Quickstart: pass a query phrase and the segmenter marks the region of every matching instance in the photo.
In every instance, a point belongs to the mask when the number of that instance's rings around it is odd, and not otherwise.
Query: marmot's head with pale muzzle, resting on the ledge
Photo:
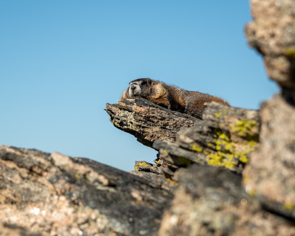
[[[129,83],[130,98],[140,98],[150,95],[152,91],[153,80],[149,78],[136,79]]]

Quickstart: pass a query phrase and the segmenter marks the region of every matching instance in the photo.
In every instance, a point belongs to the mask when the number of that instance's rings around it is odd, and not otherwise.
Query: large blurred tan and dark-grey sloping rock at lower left
[[[0,167],[0,230],[16,235],[155,235],[172,199],[163,176],[59,153],[0,146]]]

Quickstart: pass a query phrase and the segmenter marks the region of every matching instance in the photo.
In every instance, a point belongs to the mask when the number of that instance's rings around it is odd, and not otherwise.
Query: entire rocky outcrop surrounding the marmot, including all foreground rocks
[[[206,104],[202,120],[145,99],[106,104],[159,151],[130,173],[0,146],[1,235],[295,235],[295,5],[251,6],[249,44],[281,94],[259,111]]]

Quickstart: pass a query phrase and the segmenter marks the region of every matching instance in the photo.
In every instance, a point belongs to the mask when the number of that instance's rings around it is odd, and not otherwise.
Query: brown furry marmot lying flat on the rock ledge
[[[120,100],[146,98],[154,103],[202,119],[205,102],[216,101],[230,105],[221,98],[200,92],[186,91],[175,85],[169,85],[150,78],[141,78],[129,83]]]

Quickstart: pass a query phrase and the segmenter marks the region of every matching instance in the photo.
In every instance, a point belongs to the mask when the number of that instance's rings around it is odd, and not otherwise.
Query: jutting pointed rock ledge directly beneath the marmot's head
[[[190,127],[196,120],[142,98],[107,103],[105,110],[115,127],[134,135],[148,147],[152,147],[156,139],[174,142],[180,127]]]

